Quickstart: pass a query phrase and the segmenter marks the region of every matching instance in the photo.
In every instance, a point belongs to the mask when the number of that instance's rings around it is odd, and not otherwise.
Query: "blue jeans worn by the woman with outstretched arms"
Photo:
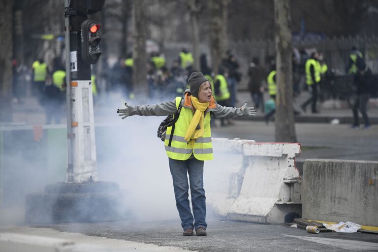
[[[169,169],[173,179],[176,206],[183,229],[203,227],[206,229],[206,197],[203,189],[203,161],[196,158],[176,160],[169,158]],[[193,215],[189,206],[189,184]],[[194,221],[194,225],[193,225]]]

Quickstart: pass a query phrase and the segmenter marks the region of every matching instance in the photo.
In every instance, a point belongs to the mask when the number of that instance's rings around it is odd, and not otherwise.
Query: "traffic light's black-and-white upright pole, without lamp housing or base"
[[[69,4],[69,6],[68,6]],[[67,182],[97,181],[91,64],[82,59],[86,0],[65,0]]]

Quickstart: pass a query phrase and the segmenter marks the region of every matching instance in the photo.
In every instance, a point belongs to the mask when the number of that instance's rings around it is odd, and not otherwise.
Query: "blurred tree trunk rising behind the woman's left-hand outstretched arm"
[[[132,58],[134,59],[133,85],[136,94],[148,94],[147,76],[147,53],[146,53],[146,1],[134,0],[133,6],[133,37],[134,48]]]

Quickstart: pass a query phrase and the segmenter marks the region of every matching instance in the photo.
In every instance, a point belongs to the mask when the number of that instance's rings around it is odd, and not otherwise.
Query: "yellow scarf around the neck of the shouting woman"
[[[185,140],[188,142],[190,139],[197,139],[203,136],[203,119],[205,116],[205,111],[209,107],[209,102],[201,103],[197,97],[191,96],[191,103],[193,104],[195,110],[194,116],[190,121],[187,132],[185,133]],[[196,129],[199,125],[199,129]]]

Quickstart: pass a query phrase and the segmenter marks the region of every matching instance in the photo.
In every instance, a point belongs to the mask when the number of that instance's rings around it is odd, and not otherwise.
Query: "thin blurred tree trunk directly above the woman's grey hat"
[[[199,16],[200,8],[201,6],[199,5],[198,0],[189,1],[194,69],[197,71],[201,70],[200,64],[199,64],[199,29],[198,29],[198,16]]]

